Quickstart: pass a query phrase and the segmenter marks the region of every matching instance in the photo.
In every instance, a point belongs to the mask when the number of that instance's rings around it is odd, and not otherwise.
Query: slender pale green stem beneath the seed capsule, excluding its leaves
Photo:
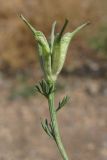
[[[53,86],[54,85],[55,84],[53,83]],[[53,132],[54,132],[54,140],[57,144],[57,147],[58,147],[59,152],[62,156],[62,159],[63,160],[68,160],[68,156],[67,156],[66,151],[64,149],[63,143],[61,141],[60,133],[59,133],[56,109],[55,109],[55,105],[54,105],[54,92],[49,95],[48,104],[49,104],[49,112],[50,112],[51,123],[52,123],[52,127],[53,127]]]

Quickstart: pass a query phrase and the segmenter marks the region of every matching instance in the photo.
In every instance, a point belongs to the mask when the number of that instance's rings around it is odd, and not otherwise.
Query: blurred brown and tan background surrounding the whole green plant
[[[71,160],[107,159],[107,0],[0,0],[0,160],[61,159],[40,125],[49,117],[44,97],[35,92],[43,78],[32,34],[22,13],[47,37],[57,20],[66,31],[86,21],[69,47],[57,82],[56,106],[63,142]]]

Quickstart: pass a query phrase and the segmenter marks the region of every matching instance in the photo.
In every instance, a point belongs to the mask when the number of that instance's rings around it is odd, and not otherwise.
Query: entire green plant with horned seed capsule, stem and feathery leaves
[[[46,134],[57,144],[62,159],[68,160],[59,132],[57,112],[66,105],[69,97],[65,96],[61,101],[59,101],[58,107],[55,107],[54,96],[56,91],[56,80],[64,65],[68,46],[72,38],[82,28],[88,25],[89,22],[77,27],[73,32],[68,32],[64,35],[63,33],[68,24],[68,20],[65,20],[60,33],[55,33],[56,22],[54,22],[52,25],[51,39],[48,42],[41,31],[37,31],[22,15],[20,17],[32,31],[35,40],[38,42],[39,58],[41,68],[44,73],[44,79],[40,81],[35,88],[36,91],[44,95],[48,100],[50,113],[50,121],[47,118],[45,120],[41,120],[41,125]]]

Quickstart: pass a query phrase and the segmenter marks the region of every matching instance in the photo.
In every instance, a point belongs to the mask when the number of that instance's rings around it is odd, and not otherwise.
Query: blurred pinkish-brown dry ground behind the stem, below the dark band
[[[66,84],[65,84],[66,82]],[[63,142],[70,160],[107,159],[107,83],[103,79],[63,77],[58,99],[70,102],[58,113]],[[40,95],[28,100],[8,100],[12,80],[0,80],[0,160],[61,159],[56,146],[40,126],[48,116],[46,100]]]

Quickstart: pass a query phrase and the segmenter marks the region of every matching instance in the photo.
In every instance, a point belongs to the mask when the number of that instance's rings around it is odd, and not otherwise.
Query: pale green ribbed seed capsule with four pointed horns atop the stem
[[[51,40],[50,43],[48,43],[41,31],[37,31],[22,15],[20,17],[30,28],[35,40],[38,42],[40,63],[45,79],[49,82],[56,81],[64,65],[67,50],[72,38],[89,23],[85,23],[76,28],[73,32],[68,32],[63,35],[68,23],[68,20],[65,20],[61,32],[55,36],[56,22],[54,22],[52,25]]]

